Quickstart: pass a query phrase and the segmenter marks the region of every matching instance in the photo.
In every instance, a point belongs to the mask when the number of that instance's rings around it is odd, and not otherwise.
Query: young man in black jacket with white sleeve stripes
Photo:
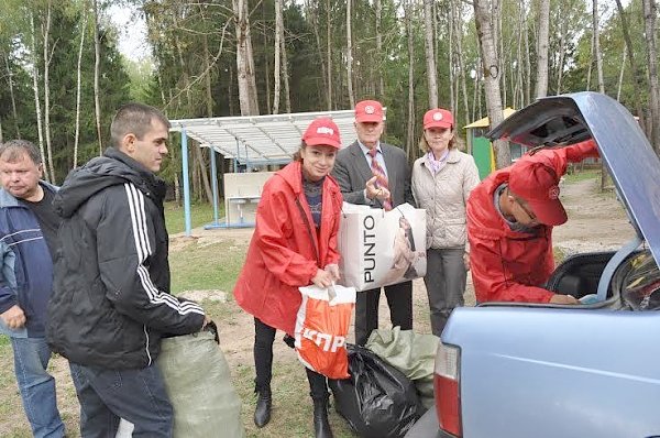
[[[82,437],[113,437],[120,417],[134,437],[170,437],[172,405],[154,361],[163,333],[208,321],[169,294],[165,183],[169,121],[129,103],[116,114],[112,147],[74,169],[54,206],[62,216],[47,339],[67,358]]]

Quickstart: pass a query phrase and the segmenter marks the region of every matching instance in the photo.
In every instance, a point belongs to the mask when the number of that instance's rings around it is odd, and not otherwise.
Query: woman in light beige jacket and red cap
[[[440,336],[463,293],[470,261],[466,249],[465,202],[480,183],[474,158],[457,149],[450,111],[436,108],[424,116],[419,147],[425,155],[413,166],[413,195],[427,210],[427,275],[431,330]]]

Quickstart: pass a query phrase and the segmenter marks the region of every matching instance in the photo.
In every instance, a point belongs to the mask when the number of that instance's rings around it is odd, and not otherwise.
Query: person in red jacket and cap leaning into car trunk
[[[598,152],[593,140],[522,156],[484,179],[466,205],[476,300],[579,304],[543,287],[554,270],[552,228],[566,221],[559,179]]]

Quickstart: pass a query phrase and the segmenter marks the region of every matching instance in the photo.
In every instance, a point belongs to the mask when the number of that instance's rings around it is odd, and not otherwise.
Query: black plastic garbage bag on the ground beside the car
[[[329,381],[337,412],[361,437],[403,437],[425,410],[415,384],[371,350],[346,349],[351,377]]]

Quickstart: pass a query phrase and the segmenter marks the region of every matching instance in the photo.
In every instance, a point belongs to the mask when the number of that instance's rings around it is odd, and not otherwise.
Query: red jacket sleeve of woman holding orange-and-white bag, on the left
[[[261,250],[266,269],[282,283],[289,286],[307,286],[316,275],[316,261],[306,259],[290,249],[285,227],[290,228],[289,202],[285,194],[264,186],[262,201],[257,209],[256,243]],[[293,230],[293,232],[305,232]]]

